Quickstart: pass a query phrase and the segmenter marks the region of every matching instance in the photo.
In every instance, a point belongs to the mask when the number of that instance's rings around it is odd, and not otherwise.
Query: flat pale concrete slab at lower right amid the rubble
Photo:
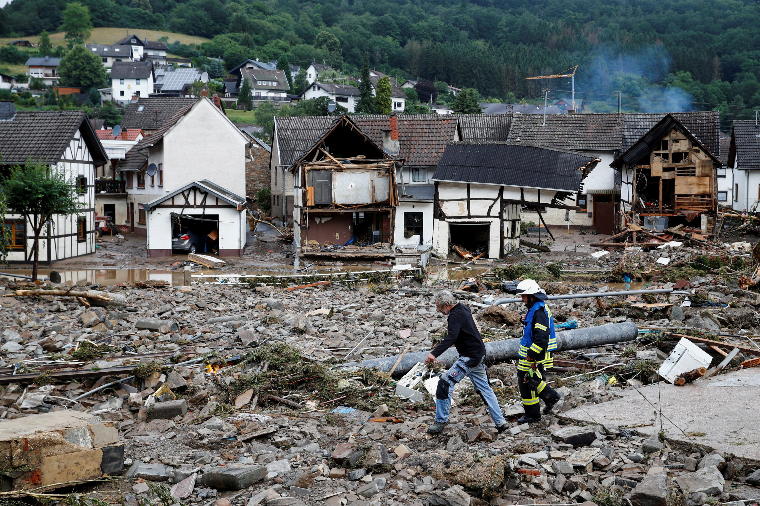
[[[677,426],[663,418],[667,438],[689,443],[689,438],[679,429],[687,434],[705,432],[705,436],[689,437],[721,453],[760,460],[760,416],[757,416],[760,367],[699,379],[682,387],[660,382],[659,386],[647,385],[638,391],[624,390],[621,394],[621,399],[576,407],[564,416],[568,421],[617,426],[654,423],[637,428],[640,434],[651,435],[660,430],[659,416],[654,414],[653,405],[657,407],[661,401],[663,415]]]

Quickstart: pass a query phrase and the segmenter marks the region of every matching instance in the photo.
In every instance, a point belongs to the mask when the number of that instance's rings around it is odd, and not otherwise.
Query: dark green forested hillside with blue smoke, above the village
[[[66,0],[13,0],[2,35],[55,31]],[[181,55],[326,61],[356,72],[442,80],[505,99],[565,96],[569,80],[524,80],[576,64],[594,110],[760,105],[757,2],[739,0],[82,0],[99,26],[168,29],[211,39]],[[169,42],[172,42],[169,39]],[[686,93],[681,93],[684,90]],[[597,93],[592,95],[591,93]],[[633,97],[633,98],[631,98]],[[669,102],[667,102],[669,101]],[[594,103],[597,102],[597,103]],[[743,118],[743,117],[742,117]]]

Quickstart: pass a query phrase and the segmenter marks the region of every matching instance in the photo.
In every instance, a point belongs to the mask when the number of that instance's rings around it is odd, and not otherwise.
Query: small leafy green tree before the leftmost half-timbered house
[[[34,242],[32,279],[37,278],[40,263],[40,235],[55,215],[71,215],[82,209],[78,190],[66,181],[62,172],[42,163],[17,165],[2,181],[2,194],[8,212],[23,215],[31,225]]]

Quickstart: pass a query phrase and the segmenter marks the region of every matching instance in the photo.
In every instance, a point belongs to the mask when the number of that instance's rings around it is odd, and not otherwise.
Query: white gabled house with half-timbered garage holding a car
[[[248,143],[220,104],[201,97],[127,153],[117,170],[126,181],[127,225],[147,235],[148,256],[169,256],[185,231],[200,239],[198,253],[242,253]]]

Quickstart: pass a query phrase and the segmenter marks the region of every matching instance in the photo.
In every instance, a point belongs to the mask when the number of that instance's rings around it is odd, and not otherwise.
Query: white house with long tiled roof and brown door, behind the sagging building
[[[678,112],[673,113],[673,117],[712,155],[719,156],[716,155],[720,153],[719,114],[717,111]],[[612,165],[613,161],[665,116],[644,113],[562,114],[546,115],[546,118],[543,115],[511,115],[511,141],[572,149],[602,160],[584,182],[583,193],[576,196],[578,209],[569,213],[569,222],[565,221],[565,211],[548,208],[543,215],[546,223],[557,227],[593,226],[600,234],[613,234],[621,228],[622,172]],[[463,134],[466,139],[466,129]],[[525,212],[535,211],[525,209]]]

